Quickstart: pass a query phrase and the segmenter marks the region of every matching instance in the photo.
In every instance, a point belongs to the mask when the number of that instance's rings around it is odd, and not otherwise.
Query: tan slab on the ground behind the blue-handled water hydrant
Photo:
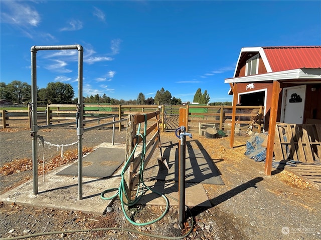
[[[145,184],[151,189],[161,192],[167,196],[171,206],[178,206],[179,202],[179,185],[176,181],[146,181]],[[138,201],[140,204],[147,205],[166,205],[164,197],[146,190],[144,195]],[[185,188],[185,204],[189,207],[205,206],[211,207],[212,204],[206,194],[202,184],[186,183]]]

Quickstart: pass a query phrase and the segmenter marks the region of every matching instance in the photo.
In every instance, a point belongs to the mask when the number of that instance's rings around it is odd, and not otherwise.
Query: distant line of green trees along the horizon
[[[77,103],[78,98],[74,98],[75,92],[71,84],[63,82],[49,82],[47,87],[37,88],[37,101],[39,104],[47,103]],[[17,103],[17,104],[27,104],[31,102],[31,85],[27,82],[21,82],[19,80],[14,80],[8,84],[5,82],[0,82],[0,98],[5,100],[7,103]],[[211,102],[210,96],[207,90],[202,92],[201,88],[198,88],[193,102],[198,102],[199,104],[209,104],[218,105],[218,102]],[[109,103],[109,104],[165,104],[165,105],[180,105],[183,103],[181,98],[176,98],[172,96],[171,92],[165,90],[162,87],[160,90],[156,91],[153,97],[145,98],[142,92],[139,92],[136,99],[115,99],[107,96],[105,93],[100,96],[99,94],[90,95],[83,97],[84,103]],[[222,103],[222,102],[219,102]],[[231,102],[224,102],[225,105],[232,104]]]

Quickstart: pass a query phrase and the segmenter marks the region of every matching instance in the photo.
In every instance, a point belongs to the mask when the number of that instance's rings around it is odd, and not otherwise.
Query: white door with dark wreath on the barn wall
[[[282,115],[285,123],[303,123],[305,85],[283,88]]]

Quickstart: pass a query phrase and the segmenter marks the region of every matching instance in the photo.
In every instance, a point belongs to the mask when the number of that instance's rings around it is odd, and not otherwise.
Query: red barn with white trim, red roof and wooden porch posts
[[[271,174],[276,122],[321,123],[321,46],[243,47],[234,75],[225,83],[231,86],[233,112],[236,104],[264,106],[267,175]],[[232,134],[232,147],[233,141]]]

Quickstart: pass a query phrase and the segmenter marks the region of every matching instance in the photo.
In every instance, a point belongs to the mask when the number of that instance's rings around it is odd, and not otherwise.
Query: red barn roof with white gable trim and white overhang
[[[267,73],[241,77],[236,76],[240,62],[244,62],[250,55],[257,53],[260,54]],[[315,69],[315,71],[311,69]],[[309,73],[306,73],[306,71]],[[243,47],[239,54],[233,78],[226,78],[225,83],[266,81],[273,79],[281,80],[285,78],[305,79],[306,77],[319,81],[320,71],[321,46]]]

